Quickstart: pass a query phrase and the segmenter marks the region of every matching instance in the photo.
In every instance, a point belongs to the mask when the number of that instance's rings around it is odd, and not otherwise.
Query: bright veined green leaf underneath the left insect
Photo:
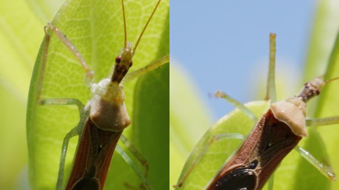
[[[135,43],[139,34],[150,16],[156,2],[154,0],[128,0],[125,2],[127,41]],[[133,67],[130,71],[141,68],[158,58],[169,54],[169,1],[162,1],[152,18],[133,58]],[[73,43],[83,55],[89,67],[94,71],[94,82],[107,78],[113,66],[114,58],[123,47],[123,22],[120,0],[67,0],[60,8],[52,24],[58,27],[67,38]],[[55,189],[56,178],[61,152],[61,144],[64,136],[79,121],[79,114],[76,106],[61,105],[39,105],[37,104],[37,88],[40,77],[45,41],[41,45],[34,73],[31,80],[31,88],[27,111],[27,139],[29,147],[29,178],[32,189]],[[83,103],[90,99],[90,93],[83,83],[84,71],[73,54],[52,34],[49,45],[49,52],[44,73],[42,98],[77,98]],[[167,68],[167,69],[166,69]],[[124,134],[130,136],[134,127],[144,127],[133,119],[138,117],[140,112],[147,112],[149,109],[143,107],[135,111],[140,97],[147,96],[150,92],[158,91],[157,86],[168,85],[168,66],[152,72],[145,87],[147,92],[140,92],[136,86],[136,80],[125,84],[125,104],[129,115],[132,117],[133,125],[128,127]],[[145,76],[147,77],[147,76]],[[138,82],[139,83],[139,82]],[[158,84],[157,84],[158,83]],[[140,88],[140,87],[139,87]],[[161,89],[159,89],[161,91]],[[157,92],[164,93],[164,92]],[[148,99],[145,98],[145,101]],[[143,101],[144,99],[142,99]],[[164,114],[168,99],[162,99],[164,103],[159,105],[161,111],[157,113],[150,111],[150,115]],[[141,100],[140,100],[141,101]],[[168,107],[167,107],[168,109]],[[166,118],[165,118],[166,119]],[[140,119],[143,121],[143,119]],[[168,126],[168,125],[167,125]],[[163,133],[168,134],[167,126],[163,126]],[[159,126],[157,126],[159,127]],[[151,138],[154,134],[149,134]],[[138,142],[138,141],[133,141]],[[66,174],[69,171],[77,138],[69,143],[66,157]],[[135,144],[139,146],[140,144]],[[166,146],[165,146],[166,145]],[[163,144],[158,148],[168,150],[168,145]],[[143,147],[144,145],[140,145]],[[155,150],[156,153],[157,150]],[[143,154],[143,151],[141,152]],[[150,175],[153,172],[150,162]],[[167,168],[168,169],[168,168]],[[155,174],[152,174],[155,175]],[[158,174],[159,175],[159,174]],[[107,179],[107,189],[124,189],[125,182],[138,186],[140,181],[135,173],[127,166],[119,155],[113,155],[111,170]],[[151,182],[153,182],[151,180]],[[161,186],[157,184],[153,186]],[[167,187],[167,186],[166,186]]]

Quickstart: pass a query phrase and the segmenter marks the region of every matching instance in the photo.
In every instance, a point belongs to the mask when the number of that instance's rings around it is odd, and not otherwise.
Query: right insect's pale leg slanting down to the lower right
[[[329,180],[335,181],[337,179],[336,174],[332,171],[331,167],[319,162],[319,160],[317,160],[308,151],[304,150],[300,146],[295,146],[294,149],[298,151],[302,157],[304,157],[310,164],[316,167]]]

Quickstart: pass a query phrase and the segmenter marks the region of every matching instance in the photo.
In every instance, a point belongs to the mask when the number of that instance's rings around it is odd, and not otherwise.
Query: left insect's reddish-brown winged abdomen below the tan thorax
[[[87,118],[66,190],[103,190],[120,132],[104,131]]]

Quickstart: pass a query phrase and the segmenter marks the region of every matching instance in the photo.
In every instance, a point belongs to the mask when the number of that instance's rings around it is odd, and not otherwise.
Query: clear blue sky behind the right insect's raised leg
[[[293,80],[305,64],[316,6],[315,0],[171,0],[171,60],[188,73],[216,120],[233,107],[209,93],[222,90],[248,102],[265,87],[270,32],[277,33],[277,72],[299,85]]]

